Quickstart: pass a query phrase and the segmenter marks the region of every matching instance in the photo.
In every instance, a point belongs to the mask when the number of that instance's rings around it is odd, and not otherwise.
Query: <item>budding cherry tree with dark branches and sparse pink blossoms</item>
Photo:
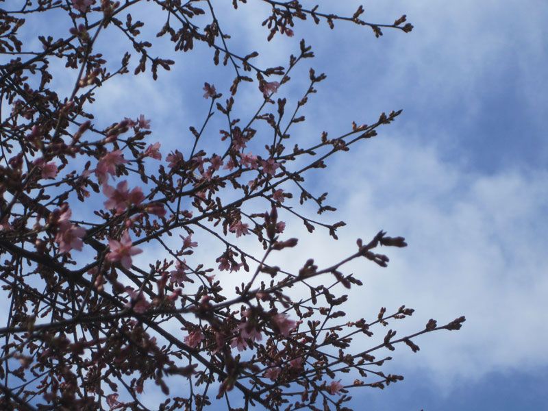
[[[232,6],[240,12],[247,3]],[[362,26],[356,29],[378,38],[412,25],[406,16],[371,23],[361,6],[347,16],[322,9],[334,3],[249,3],[264,4],[264,21],[240,24],[262,25],[268,40],[294,40],[295,53],[279,66],[261,66],[257,51],[233,49],[238,32],[231,38],[224,31],[214,0],[3,3],[2,409],[147,410],[154,393],[159,410],[343,410],[353,388],[403,379],[383,371],[388,351],[406,345],[416,352],[417,336],[460,329],[464,317],[443,325],[430,319],[396,336],[389,325],[413,314],[405,306],[347,318],[345,291],[362,281],[345,265],[385,267],[380,248],[406,247],[402,237],[369,233],[330,266],[314,256],[297,270],[276,265],[299,247],[290,225],[304,224],[312,236],[325,230],[334,240],[345,225],[330,222],[335,208],[327,193],[308,190],[306,177],[401,112],[313,141],[293,132],[325,79],[310,69],[297,101],[281,97],[295,67],[314,57],[298,40],[299,26]],[[145,5],[163,20],[134,18]],[[33,19],[50,32],[36,34]],[[59,32],[59,21],[70,27]],[[147,29],[158,31],[148,38]],[[127,51],[106,58],[113,36]],[[196,64],[220,66],[232,84],[221,89],[206,77],[184,86],[209,110],[171,150],[163,149],[170,136],[155,134],[146,112],[132,117],[119,108],[105,118],[94,105],[119,77],[169,76],[177,57],[156,54],[160,40],[181,60],[203,45],[211,60]],[[75,81],[59,87],[66,78]],[[245,105],[246,117],[238,118],[242,90],[259,103]],[[310,204],[319,216],[308,215]]]

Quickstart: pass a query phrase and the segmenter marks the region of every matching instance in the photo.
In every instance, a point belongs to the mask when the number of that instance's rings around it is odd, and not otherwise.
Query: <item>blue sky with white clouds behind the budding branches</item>
[[[308,186],[328,190],[338,207],[333,221],[348,226],[336,243],[323,234],[307,240],[303,229],[290,228],[305,241],[282,262],[298,266],[303,253],[334,262],[356,237],[386,229],[410,246],[390,250],[388,269],[351,267],[366,289],[351,295],[347,312],[371,316],[380,306],[406,303],[417,311],[402,332],[431,316],[467,317],[458,333],[420,340],[419,353],[397,350],[391,367],[406,380],[382,392],[354,391],[353,408],[548,410],[548,3],[375,0],[365,4],[367,19],[393,21],[405,13],[413,32],[388,30],[375,39],[361,27],[340,23],[330,32],[299,23],[294,38],[270,44],[261,27],[242,24],[242,16],[264,15],[248,3],[220,14],[231,47],[264,50],[259,61],[272,65],[285,64],[302,37],[316,52],[280,94],[297,99],[310,66],[327,73],[296,136],[335,135],[351,121],[372,123],[379,112],[403,109],[379,138],[310,175]],[[319,3],[350,14],[358,5]],[[119,45],[108,41],[115,51]],[[169,45],[161,47],[170,53]],[[100,89],[97,118],[108,124],[121,112],[144,113],[164,155],[185,145],[188,126],[200,125],[208,108],[201,84],[212,82],[227,95],[232,72],[211,68],[209,51],[200,47],[176,58],[173,72],[160,73],[157,83],[141,75]],[[240,101],[256,101],[255,87]]]

